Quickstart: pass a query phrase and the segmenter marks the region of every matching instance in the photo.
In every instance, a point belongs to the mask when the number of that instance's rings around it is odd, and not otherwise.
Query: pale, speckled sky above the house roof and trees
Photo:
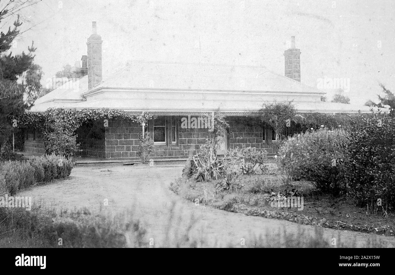
[[[30,29],[11,50],[27,51],[34,41],[45,84],[87,54],[96,21],[103,77],[128,60],[265,66],[284,75],[284,51],[295,36],[301,83],[320,86],[330,100],[336,89],[322,87],[322,79],[344,81],[350,102],[364,104],[377,102],[379,83],[395,90],[394,6],[392,0],[42,0],[21,11],[22,29]]]

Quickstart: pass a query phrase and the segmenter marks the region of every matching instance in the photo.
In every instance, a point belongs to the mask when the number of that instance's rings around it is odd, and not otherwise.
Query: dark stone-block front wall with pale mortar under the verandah
[[[259,123],[250,124],[240,122],[237,118],[229,120],[227,148],[240,150],[254,147],[258,150],[266,150],[269,154],[273,153],[271,131]],[[149,123],[147,127],[152,137],[152,123]],[[142,126],[136,122],[109,120],[109,125],[105,129],[105,158],[138,158],[140,132],[142,132]],[[201,150],[201,145],[204,145],[207,139],[212,138],[212,133],[206,128],[181,128],[181,119],[177,119],[176,132],[175,143],[169,142],[167,138],[166,144],[154,144],[155,156],[193,156]]]

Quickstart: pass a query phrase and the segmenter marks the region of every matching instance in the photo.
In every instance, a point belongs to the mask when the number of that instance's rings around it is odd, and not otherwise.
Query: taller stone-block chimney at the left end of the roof
[[[88,46],[88,90],[102,81],[102,38],[97,34],[96,22],[92,22],[93,33],[87,41]],[[81,58],[83,60],[83,58]],[[84,60],[83,60],[84,62]]]

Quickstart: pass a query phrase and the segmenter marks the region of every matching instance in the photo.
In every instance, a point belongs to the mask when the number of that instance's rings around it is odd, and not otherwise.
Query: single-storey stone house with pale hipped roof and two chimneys
[[[285,75],[254,66],[131,61],[102,79],[102,38],[94,22],[87,55],[72,70],[74,79],[36,100],[30,111],[59,107],[153,113],[158,118],[145,130],[154,138],[156,157],[185,159],[199,150],[210,131],[182,127],[182,122],[219,109],[230,128],[218,153],[250,146],[272,153],[273,130],[262,126],[256,117],[264,101],[293,100],[303,113],[369,112],[367,106],[322,102],[324,92],[300,83],[300,55],[292,37],[291,49],[284,52]],[[83,155],[136,158],[141,131],[137,123],[110,120],[108,127],[100,121],[86,125],[77,134],[86,136],[80,140]],[[40,136],[30,134],[25,148],[43,153]]]

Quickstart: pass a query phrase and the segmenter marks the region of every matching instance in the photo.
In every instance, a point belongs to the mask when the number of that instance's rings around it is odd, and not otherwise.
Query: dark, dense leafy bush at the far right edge
[[[348,194],[359,205],[376,206],[381,199],[382,206],[393,208],[395,118],[381,113],[363,117],[362,123],[350,134],[347,152]]]

